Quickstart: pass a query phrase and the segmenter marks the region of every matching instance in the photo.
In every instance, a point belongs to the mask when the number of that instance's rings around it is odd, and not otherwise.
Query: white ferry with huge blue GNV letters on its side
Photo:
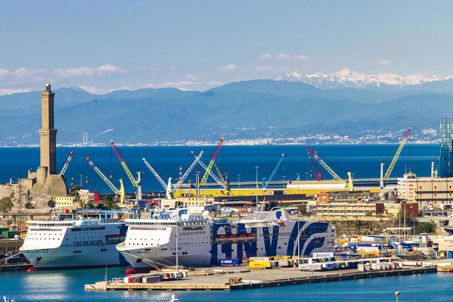
[[[206,211],[207,212],[207,211]],[[335,226],[298,221],[278,206],[238,219],[188,214],[177,208],[148,219],[126,219],[126,240],[116,246],[137,272],[173,266],[209,267],[218,259],[334,252]],[[178,242],[178,244],[177,244]]]

